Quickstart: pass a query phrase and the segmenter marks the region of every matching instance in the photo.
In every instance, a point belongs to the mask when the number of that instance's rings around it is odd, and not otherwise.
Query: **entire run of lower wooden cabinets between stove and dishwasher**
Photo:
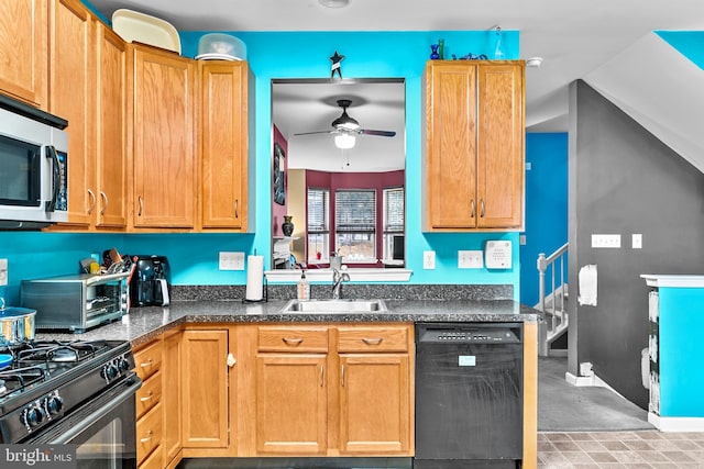
[[[194,324],[134,351],[138,464],[413,456],[411,324]]]

